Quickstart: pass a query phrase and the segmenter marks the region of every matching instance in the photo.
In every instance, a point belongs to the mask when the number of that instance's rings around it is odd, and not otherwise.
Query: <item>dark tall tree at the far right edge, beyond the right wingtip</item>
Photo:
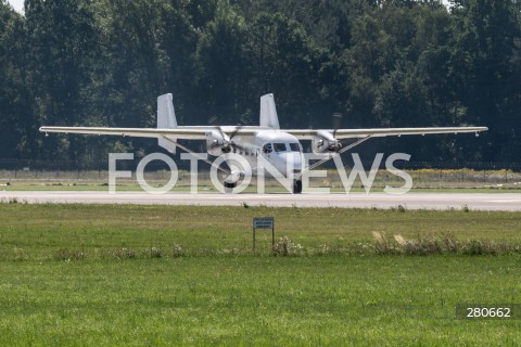
[[[490,127],[476,158],[512,157],[521,132],[521,75],[516,42],[521,38],[519,11],[510,1],[468,0],[453,10],[450,77],[468,121]]]

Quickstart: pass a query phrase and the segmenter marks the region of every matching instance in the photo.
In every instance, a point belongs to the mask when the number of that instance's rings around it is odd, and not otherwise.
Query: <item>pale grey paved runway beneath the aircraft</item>
[[[519,193],[385,193],[350,194],[221,194],[170,192],[154,195],[147,192],[66,192],[20,191],[0,192],[3,203],[16,201],[28,204],[144,204],[200,206],[280,206],[280,207],[338,207],[338,208],[396,208],[406,209],[462,209],[521,211]]]

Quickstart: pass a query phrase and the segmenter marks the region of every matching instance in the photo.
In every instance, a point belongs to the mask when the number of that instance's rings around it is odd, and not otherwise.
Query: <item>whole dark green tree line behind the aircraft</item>
[[[478,140],[378,140],[416,160],[519,162],[521,7],[509,0],[0,0],[0,158],[89,160],[155,141],[41,125],[487,126]],[[216,118],[216,120],[215,120]]]

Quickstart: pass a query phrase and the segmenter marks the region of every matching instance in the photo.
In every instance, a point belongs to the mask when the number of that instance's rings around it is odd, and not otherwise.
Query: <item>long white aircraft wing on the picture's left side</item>
[[[225,132],[233,132],[236,127],[221,127]],[[215,130],[216,127],[177,127],[174,129],[155,128],[104,128],[104,127],[40,127],[41,132],[64,132],[85,134],[113,134],[137,138],[175,138],[183,140],[204,140],[206,132]],[[253,134],[258,131],[254,128],[240,129],[241,134]]]

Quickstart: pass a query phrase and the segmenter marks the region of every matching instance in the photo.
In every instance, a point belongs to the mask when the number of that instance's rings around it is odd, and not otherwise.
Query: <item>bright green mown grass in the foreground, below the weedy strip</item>
[[[201,257],[2,262],[0,344],[514,346],[519,257]]]

